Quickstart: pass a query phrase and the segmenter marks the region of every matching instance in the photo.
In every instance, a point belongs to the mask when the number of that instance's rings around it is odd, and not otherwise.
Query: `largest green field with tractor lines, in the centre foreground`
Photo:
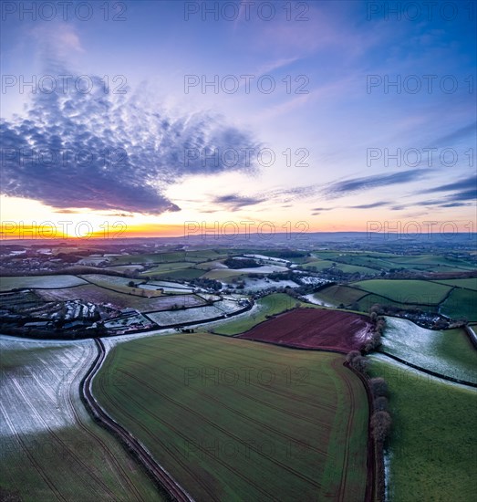
[[[114,347],[93,391],[196,500],[362,500],[368,401],[343,361],[171,335]]]

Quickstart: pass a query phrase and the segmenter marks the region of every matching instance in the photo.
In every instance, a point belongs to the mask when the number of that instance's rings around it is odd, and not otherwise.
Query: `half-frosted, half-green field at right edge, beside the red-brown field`
[[[477,350],[463,329],[437,331],[407,319],[386,321],[381,350],[426,370],[477,383]]]

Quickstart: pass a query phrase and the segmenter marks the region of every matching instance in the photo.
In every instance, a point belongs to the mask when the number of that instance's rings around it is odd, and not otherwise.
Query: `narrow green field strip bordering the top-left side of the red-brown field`
[[[226,320],[213,329],[215,333],[221,335],[238,335],[244,333],[248,329],[254,328],[259,322],[263,322],[266,316],[273,316],[285,312],[285,310],[293,309],[299,303],[301,307],[313,307],[302,302],[298,302],[285,293],[274,293],[266,297],[259,298],[256,301],[258,310],[253,313],[248,313],[239,319]]]

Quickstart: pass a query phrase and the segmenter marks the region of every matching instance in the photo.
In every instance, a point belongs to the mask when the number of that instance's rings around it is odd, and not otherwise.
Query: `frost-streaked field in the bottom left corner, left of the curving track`
[[[79,397],[93,340],[0,336],[0,485],[25,501],[160,500]]]

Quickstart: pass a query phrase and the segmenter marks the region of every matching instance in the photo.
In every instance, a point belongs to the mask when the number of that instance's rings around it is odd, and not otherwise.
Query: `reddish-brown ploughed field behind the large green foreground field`
[[[327,309],[294,309],[258,324],[237,338],[305,349],[360,350],[370,334],[365,316]]]

